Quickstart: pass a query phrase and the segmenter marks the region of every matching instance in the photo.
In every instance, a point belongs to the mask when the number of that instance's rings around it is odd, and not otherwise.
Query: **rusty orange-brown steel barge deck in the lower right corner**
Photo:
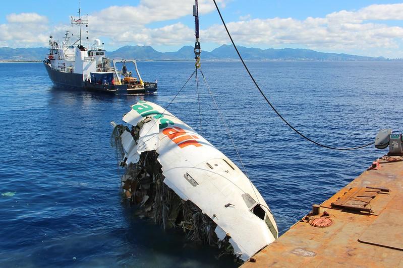
[[[382,157],[242,267],[403,267],[403,161],[394,159]]]

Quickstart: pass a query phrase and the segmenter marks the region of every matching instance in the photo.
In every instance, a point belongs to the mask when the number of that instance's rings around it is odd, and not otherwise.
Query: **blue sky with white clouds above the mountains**
[[[216,0],[237,45],[403,58],[403,2],[371,0]],[[212,0],[199,0],[202,50],[229,44]],[[47,47],[49,35],[76,38],[70,17],[88,16],[88,36],[106,50],[147,45],[167,52],[194,45],[194,0],[2,3],[0,47]],[[88,30],[88,34],[85,32]]]

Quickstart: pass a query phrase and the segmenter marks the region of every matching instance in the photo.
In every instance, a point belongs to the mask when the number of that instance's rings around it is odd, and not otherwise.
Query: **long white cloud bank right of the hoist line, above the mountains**
[[[244,45],[299,45],[322,50],[365,51],[402,48],[402,27],[374,22],[401,19],[403,4],[371,5],[355,12],[334,12],[325,18],[253,19],[230,22],[227,27],[234,39]],[[205,41],[228,43],[220,25],[209,27],[201,35]]]

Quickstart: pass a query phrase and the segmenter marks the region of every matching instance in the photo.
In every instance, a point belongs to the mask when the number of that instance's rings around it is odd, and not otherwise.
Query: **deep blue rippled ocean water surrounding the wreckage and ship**
[[[248,62],[278,111],[310,138],[349,147],[381,128],[403,131],[403,65],[385,62]],[[193,62],[139,62],[155,96],[109,96],[52,87],[42,63],[0,64],[0,266],[237,266],[121,203],[109,137],[139,100],[166,107]],[[202,70],[252,182],[280,233],[351,182],[386,151],[333,151],[291,131],[270,110],[239,62]],[[200,77],[199,77],[200,78]],[[194,79],[169,111],[240,166],[211,97]]]

